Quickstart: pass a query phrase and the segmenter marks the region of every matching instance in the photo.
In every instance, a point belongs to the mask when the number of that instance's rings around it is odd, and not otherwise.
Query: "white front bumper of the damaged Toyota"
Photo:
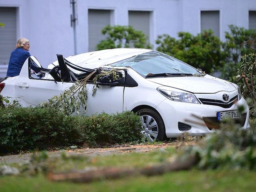
[[[213,105],[193,104],[176,102],[165,99],[156,110],[163,118],[166,136],[168,138],[179,137],[181,134],[187,136],[201,136],[213,132],[220,127],[221,122],[217,121],[217,112],[237,110],[239,106],[244,106],[242,118],[235,119],[241,129],[249,130],[249,108],[242,98],[230,108],[222,108]]]

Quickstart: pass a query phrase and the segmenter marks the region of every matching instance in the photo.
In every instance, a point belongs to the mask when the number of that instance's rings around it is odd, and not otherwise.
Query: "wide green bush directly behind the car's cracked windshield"
[[[221,41],[212,30],[193,36],[188,32],[179,32],[176,40],[167,34],[158,36],[157,51],[164,52],[182,60],[195,68],[202,68],[207,73],[222,65]]]

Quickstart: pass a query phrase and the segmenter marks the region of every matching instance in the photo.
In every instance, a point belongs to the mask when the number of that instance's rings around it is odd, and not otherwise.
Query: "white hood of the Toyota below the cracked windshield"
[[[236,90],[236,87],[230,82],[210,75],[205,75],[202,77],[158,77],[148,78],[147,80],[192,93],[216,93],[220,91],[232,92]]]

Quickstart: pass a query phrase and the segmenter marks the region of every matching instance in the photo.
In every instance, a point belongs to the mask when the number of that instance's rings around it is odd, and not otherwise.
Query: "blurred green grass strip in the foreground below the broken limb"
[[[128,177],[92,183],[51,182],[43,175],[36,177],[4,176],[3,192],[79,192],[79,191],[254,191],[255,172],[234,170],[179,171],[152,177]]]

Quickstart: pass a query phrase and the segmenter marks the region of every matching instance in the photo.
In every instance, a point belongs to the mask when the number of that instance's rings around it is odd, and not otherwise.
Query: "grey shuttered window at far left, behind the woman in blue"
[[[8,65],[17,41],[16,8],[0,7],[0,18],[4,23],[4,28],[0,28],[0,65]]]

